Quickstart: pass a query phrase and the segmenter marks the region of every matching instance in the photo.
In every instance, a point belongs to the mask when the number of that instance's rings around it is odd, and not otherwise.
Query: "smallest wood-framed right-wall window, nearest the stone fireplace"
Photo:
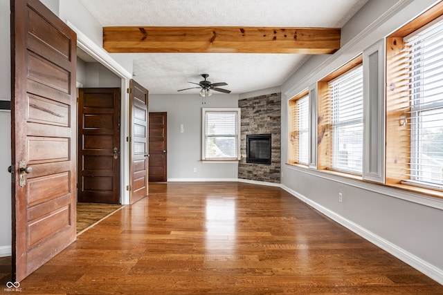
[[[307,91],[289,101],[289,162],[309,162],[309,96]]]

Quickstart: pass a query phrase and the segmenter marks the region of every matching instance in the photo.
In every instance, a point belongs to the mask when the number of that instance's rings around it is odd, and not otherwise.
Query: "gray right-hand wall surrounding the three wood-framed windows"
[[[282,184],[323,213],[379,242],[381,247],[442,283],[442,199],[285,164],[288,99],[416,17],[433,2],[369,1],[343,28],[341,50],[329,57],[312,57],[282,85]],[[389,10],[388,4],[397,8]],[[339,192],[343,193],[342,203],[338,202]]]

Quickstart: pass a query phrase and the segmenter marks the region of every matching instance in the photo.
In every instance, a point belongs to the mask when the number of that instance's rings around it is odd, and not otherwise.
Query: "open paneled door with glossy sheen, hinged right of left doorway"
[[[131,79],[129,93],[131,101],[130,199],[131,204],[134,204],[147,196],[148,91]]]

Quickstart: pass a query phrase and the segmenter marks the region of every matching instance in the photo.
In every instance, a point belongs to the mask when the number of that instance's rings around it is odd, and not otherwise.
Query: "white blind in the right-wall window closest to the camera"
[[[410,170],[406,178],[443,189],[443,21],[405,41],[410,75]]]

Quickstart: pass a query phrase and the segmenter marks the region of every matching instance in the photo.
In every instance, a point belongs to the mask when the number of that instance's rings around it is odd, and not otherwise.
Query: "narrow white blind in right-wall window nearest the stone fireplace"
[[[297,100],[298,111],[298,163],[307,165],[309,160],[309,97]]]

